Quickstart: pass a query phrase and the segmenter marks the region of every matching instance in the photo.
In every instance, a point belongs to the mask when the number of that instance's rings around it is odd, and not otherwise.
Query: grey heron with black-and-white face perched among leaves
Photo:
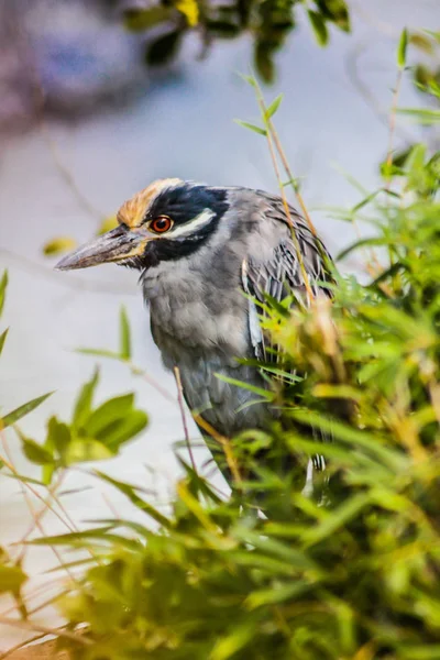
[[[267,296],[304,304],[309,287],[330,297],[331,256],[314,228],[276,195],[179,178],[152,183],[117,219],[56,268],[113,262],[139,271],[154,342],[165,367],[178,369],[202,432],[206,425],[226,438],[267,429],[277,413],[254,389],[268,386],[255,361],[274,353],[262,306]]]

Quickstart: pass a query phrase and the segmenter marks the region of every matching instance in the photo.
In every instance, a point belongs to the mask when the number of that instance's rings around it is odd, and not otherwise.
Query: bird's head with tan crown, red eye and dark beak
[[[180,179],[154,182],[122,205],[116,229],[78,248],[56,268],[116,262],[143,270],[182,258],[209,240],[228,208],[224,188]]]

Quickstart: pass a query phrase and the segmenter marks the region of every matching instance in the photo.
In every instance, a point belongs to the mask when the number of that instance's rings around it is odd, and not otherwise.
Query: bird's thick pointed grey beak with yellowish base
[[[108,262],[123,262],[143,254],[147,241],[148,238],[142,229],[130,230],[124,224],[120,224],[62,258],[55,268],[74,271]]]

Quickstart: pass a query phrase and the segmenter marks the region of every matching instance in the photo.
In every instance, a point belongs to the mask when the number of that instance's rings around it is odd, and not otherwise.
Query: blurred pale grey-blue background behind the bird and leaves
[[[161,392],[176,398],[174,378],[163,370],[150,336],[135,274],[111,265],[56,273],[57,257],[43,249],[57,237],[88,240],[124,199],[160,177],[275,191],[265,141],[233,122],[257,119],[253,90],[239,75],[251,67],[271,79],[264,85],[267,100],[284,92],[276,127],[324,242],[333,253],[352,242],[352,227],[332,219],[326,207],[346,207],[363,197],[350,177],[366,190],[378,185],[399,34],[404,26],[419,35],[424,28],[438,30],[440,6],[438,0],[353,0],[351,32],[341,13],[327,23],[315,18],[314,31],[304,3],[294,9],[294,21],[283,23],[284,32],[277,29],[277,43],[268,18],[260,32],[242,30],[223,14],[196,25],[188,0],[172,9],[122,0],[6,0],[0,6],[0,263],[9,270],[3,320],[11,327],[1,364],[2,410],[54,391],[23,420],[23,430],[36,440],[51,414],[68,417],[97,362],[75,349],[114,349],[125,305],[134,362],[160,389],[122,364],[101,361],[99,397],[135,391],[138,405],[151,416],[142,437],[105,468],[153,488],[160,502],[178,474],[173,442],[183,439],[183,426],[175,400]],[[326,47],[317,47],[317,38],[328,41]],[[410,64],[439,66],[436,48],[424,47],[422,38],[420,44],[410,50]],[[414,70],[408,72],[399,106],[420,107],[422,96]],[[398,119],[395,148],[417,142],[420,131],[439,143],[432,128]],[[197,436],[194,426],[191,435]],[[16,469],[37,476],[14,442],[8,436]],[[0,544],[20,539],[31,521],[19,485],[4,482]],[[90,486],[81,473],[65,486],[85,488],[66,495],[78,524],[110,509],[130,515],[122,496],[112,492],[109,502],[101,485],[99,491]],[[43,525],[46,532],[59,531],[51,516]],[[29,553],[33,587],[44,584],[50,565],[46,551]],[[11,644],[9,632],[0,635],[0,649]]]

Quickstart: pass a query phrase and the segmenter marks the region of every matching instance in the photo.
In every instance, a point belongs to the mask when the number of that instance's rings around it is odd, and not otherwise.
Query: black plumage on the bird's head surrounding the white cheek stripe
[[[148,268],[157,266],[163,261],[189,256],[215,233],[228,207],[227,190],[190,184],[165,189],[152,205],[144,222],[158,216],[168,216],[174,221],[174,227],[180,227],[194,220],[206,209],[215,213],[211,221],[187,237],[167,239],[164,235],[150,241],[142,256],[131,258],[124,262],[124,265],[132,268]]]

